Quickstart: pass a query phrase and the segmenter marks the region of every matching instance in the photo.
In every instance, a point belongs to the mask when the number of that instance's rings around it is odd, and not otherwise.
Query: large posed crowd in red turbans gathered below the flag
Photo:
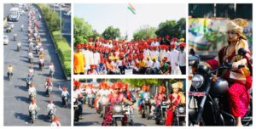
[[[75,75],[185,75],[184,39],[170,36],[147,40],[106,40],[80,43],[73,54]]]

